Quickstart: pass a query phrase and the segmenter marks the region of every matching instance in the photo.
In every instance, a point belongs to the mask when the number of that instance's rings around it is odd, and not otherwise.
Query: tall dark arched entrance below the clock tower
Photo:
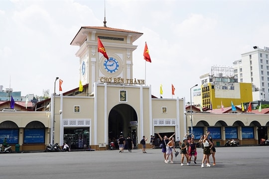
[[[114,106],[108,118],[109,142],[119,138],[131,136],[136,146],[137,141],[137,114],[134,108],[128,104],[118,104]],[[117,147],[117,143],[116,147]]]

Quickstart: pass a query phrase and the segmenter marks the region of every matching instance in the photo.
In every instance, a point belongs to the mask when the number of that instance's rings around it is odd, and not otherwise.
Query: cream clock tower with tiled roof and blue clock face
[[[80,59],[80,80],[89,84],[88,93],[94,83],[114,83],[113,79],[133,79],[133,45],[142,33],[111,27],[81,27],[71,45],[79,46],[76,56]],[[103,43],[109,59],[98,52],[98,37]]]

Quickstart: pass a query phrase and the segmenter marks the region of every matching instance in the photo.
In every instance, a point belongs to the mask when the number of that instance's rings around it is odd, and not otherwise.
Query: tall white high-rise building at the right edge
[[[269,100],[269,47],[258,46],[241,54],[242,59],[233,62],[234,74],[240,83],[251,83],[253,100]]]

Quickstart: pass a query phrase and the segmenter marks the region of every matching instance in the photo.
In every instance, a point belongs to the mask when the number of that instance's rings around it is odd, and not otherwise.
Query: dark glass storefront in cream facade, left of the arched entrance
[[[89,128],[64,128],[64,143],[67,143],[71,149],[88,149],[89,142]]]

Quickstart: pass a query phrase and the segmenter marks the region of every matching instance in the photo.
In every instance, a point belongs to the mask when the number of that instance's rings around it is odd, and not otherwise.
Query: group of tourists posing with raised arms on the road
[[[171,135],[169,138],[167,136],[161,137],[159,133],[157,133],[160,141],[161,141],[161,148],[162,148],[162,153],[164,157],[164,162],[167,164],[169,163],[169,156],[171,156],[171,161],[170,163],[173,163],[173,151],[176,154],[175,150],[175,139],[174,135]],[[211,167],[209,164],[209,156],[212,155],[213,158],[213,165],[216,165],[215,161],[215,153],[216,149],[214,147],[214,142],[212,141],[211,136],[209,136],[210,132],[208,132],[205,135],[202,135],[199,143],[201,144],[202,149],[203,149],[203,160],[202,160],[202,165],[201,167],[204,167],[204,163],[206,163],[206,167]],[[194,156],[194,164],[196,163],[197,160],[197,150],[196,150],[196,144],[194,143],[194,135],[193,134],[186,134],[183,138],[182,143],[180,144],[180,154],[181,154],[181,166],[184,166],[184,158],[186,158],[187,161],[187,166],[190,165],[192,156]]]

